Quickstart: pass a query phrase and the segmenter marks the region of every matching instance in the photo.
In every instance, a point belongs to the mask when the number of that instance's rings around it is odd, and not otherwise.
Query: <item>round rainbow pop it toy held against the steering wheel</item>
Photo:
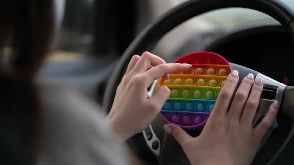
[[[188,130],[200,130],[206,124],[232,67],[226,59],[212,52],[192,53],[174,63],[188,63],[192,67],[185,72],[170,74],[169,80],[159,80],[157,88],[164,85],[171,90],[160,114],[169,123]]]

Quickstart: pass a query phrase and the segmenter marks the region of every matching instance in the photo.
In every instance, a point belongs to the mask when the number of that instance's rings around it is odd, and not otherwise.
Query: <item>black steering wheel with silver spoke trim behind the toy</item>
[[[116,88],[125,73],[128,62],[135,54],[141,55],[144,51],[151,51],[156,43],[170,30],[184,21],[200,14],[216,9],[241,7],[263,12],[279,21],[290,33],[294,40],[294,11],[279,0],[189,0],[157,21],[149,24],[131,43],[119,60],[110,77],[103,99],[103,107],[109,112],[114,100]],[[229,59],[228,59],[229,60]],[[274,60],[274,59],[273,59]],[[239,71],[239,83],[249,73],[261,77],[264,83],[263,97],[261,98],[257,113],[265,113],[274,100],[280,101],[277,116],[279,127],[272,131],[267,141],[258,151],[253,165],[272,165],[283,160],[294,164],[294,158],[287,155],[287,150],[293,141],[294,135],[294,87],[279,83],[258,71],[231,63],[233,69]],[[155,90],[156,82],[150,89],[150,94]],[[163,125],[166,122],[158,115],[150,126],[143,132],[144,138],[151,151],[158,157],[161,165],[189,165],[189,161],[181,146],[174,138],[165,133]],[[187,131],[192,136],[198,136],[201,131]]]

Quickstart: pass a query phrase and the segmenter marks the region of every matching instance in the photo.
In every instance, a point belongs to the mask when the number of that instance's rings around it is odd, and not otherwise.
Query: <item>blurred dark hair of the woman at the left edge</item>
[[[34,79],[50,48],[53,13],[53,0],[2,0],[0,5],[0,129],[7,130],[0,134],[18,136],[15,144],[23,144],[19,147],[32,159],[42,127]]]

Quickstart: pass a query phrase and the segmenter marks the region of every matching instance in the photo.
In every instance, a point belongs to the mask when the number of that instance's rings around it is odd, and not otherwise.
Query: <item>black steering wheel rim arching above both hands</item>
[[[109,112],[115,91],[132,55],[151,51],[156,43],[170,30],[186,20],[216,9],[241,7],[263,12],[279,21],[294,41],[294,11],[279,0],[190,0],[172,9],[157,21],[149,24],[122,55],[108,82],[103,107]],[[289,134],[292,136],[293,132]],[[286,143],[286,142],[285,142]],[[282,147],[285,147],[285,144]],[[272,161],[270,161],[272,162]]]

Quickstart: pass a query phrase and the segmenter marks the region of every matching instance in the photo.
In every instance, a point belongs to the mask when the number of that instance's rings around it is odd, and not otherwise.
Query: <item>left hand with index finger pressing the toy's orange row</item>
[[[149,97],[147,88],[154,80],[161,77],[169,79],[169,73],[186,71],[190,67],[190,64],[166,64],[149,52],[144,52],[141,57],[132,57],[106,117],[120,140],[146,129],[169,98],[170,90],[166,86],[159,87],[152,98]]]

